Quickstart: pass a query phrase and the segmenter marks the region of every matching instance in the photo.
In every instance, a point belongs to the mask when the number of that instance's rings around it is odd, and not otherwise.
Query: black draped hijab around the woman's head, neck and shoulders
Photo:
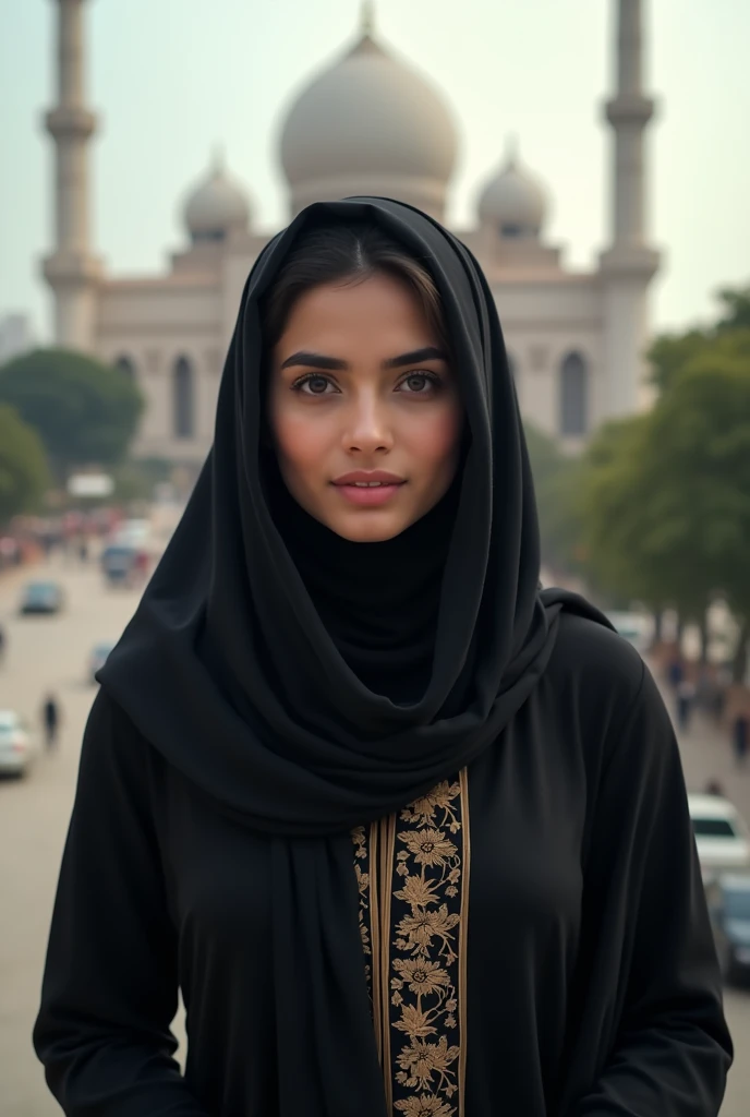
[[[375,569],[365,555],[371,545],[337,543],[289,505],[278,481],[273,495],[262,467],[259,302],[299,233],[331,219],[375,222],[429,268],[470,431],[445,500],[383,548],[403,562],[410,545],[421,547],[435,533],[439,576],[427,572],[424,615],[404,629],[405,671],[415,665],[406,672],[408,694],[394,694],[392,677],[379,693],[368,686],[384,681],[383,648],[400,648],[387,621],[378,630],[372,619],[366,634],[366,583],[352,592],[352,547],[363,548],[357,562]],[[306,561],[309,541],[344,576],[334,583],[347,586],[344,608]],[[392,605],[388,599],[388,615]],[[501,747],[504,726],[549,661],[561,608],[602,619],[580,599],[539,592],[529,461],[478,264],[408,206],[379,198],[310,206],[250,274],[213,449],[99,676],[171,764],[271,843],[281,1117],[294,1110],[285,1102],[289,1079],[301,1089],[295,1097],[306,1098],[307,1117],[354,1109],[383,1117],[349,830],[404,806],[484,748]]]

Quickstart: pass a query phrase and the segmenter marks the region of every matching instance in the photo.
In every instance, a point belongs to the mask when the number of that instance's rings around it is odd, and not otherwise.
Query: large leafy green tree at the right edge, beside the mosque
[[[604,588],[698,621],[722,593],[750,633],[750,331],[706,337],[650,414],[605,428],[584,494]]]

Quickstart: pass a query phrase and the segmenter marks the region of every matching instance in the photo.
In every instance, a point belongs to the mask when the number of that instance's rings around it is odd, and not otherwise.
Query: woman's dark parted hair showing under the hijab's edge
[[[369,222],[331,222],[309,229],[295,244],[263,298],[263,333],[268,351],[283,333],[300,295],[320,284],[357,283],[377,271],[403,279],[416,295],[427,322],[450,352],[443,306],[435,281],[414,256]]]

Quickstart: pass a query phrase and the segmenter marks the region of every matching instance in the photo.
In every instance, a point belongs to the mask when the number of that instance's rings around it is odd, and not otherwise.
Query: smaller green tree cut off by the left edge
[[[0,404],[0,525],[35,512],[48,486],[41,439],[17,411]]]

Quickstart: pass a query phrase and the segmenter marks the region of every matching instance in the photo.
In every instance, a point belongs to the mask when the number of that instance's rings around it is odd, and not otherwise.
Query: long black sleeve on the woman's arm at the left
[[[100,694],[84,736],[33,1031],[67,1117],[205,1117],[173,1054],[176,945],[148,756]]]

